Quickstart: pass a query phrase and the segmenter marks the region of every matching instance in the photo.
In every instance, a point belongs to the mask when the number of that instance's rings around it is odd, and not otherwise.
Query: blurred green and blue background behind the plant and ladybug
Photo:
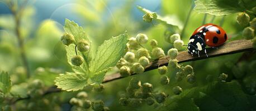
[[[0,4],[0,70],[7,71],[11,74],[12,84],[22,85],[33,79],[42,79],[46,88],[54,85],[54,78],[57,74],[70,72],[70,67],[65,57],[65,49],[60,42],[60,37],[64,33],[63,26],[65,18],[77,22],[84,28],[88,37],[94,44],[99,46],[103,41],[118,36],[127,31],[129,37],[134,37],[138,33],[145,33],[149,39],[156,39],[159,46],[165,53],[171,48],[171,44],[165,42],[165,31],[168,27],[164,24],[153,22],[146,23],[143,21],[144,15],[137,5],[145,7],[150,11],[157,12],[163,17],[167,17],[169,22],[178,24],[181,33],[184,23],[187,19],[189,9],[193,6],[192,0],[37,0],[29,1],[21,19],[21,36],[24,39],[25,51],[29,60],[30,72],[32,77],[28,80],[22,66],[20,51],[14,32],[15,22],[13,21],[10,9],[4,4]],[[202,25],[205,14],[191,12],[187,27],[181,39],[186,44],[193,31]],[[210,23],[214,16],[207,15],[206,23]],[[243,27],[240,27],[235,20],[236,14],[226,16],[222,28],[227,32],[228,41],[241,39]],[[212,23],[220,24],[222,17],[215,17]],[[148,49],[151,47],[145,46]],[[150,70],[143,74],[134,75],[141,80],[142,83],[149,82],[153,84],[154,90],[164,91],[172,94],[174,85],[181,85],[183,90],[207,83],[205,79],[208,74],[218,77],[221,73],[229,74],[228,81],[235,79],[233,77],[233,67],[237,63],[242,53],[221,56],[216,58],[208,58],[197,60],[195,62],[187,62],[191,64],[195,70],[197,84],[189,84],[182,80],[162,86],[159,83],[160,74],[157,70]],[[114,80],[105,84],[105,91],[102,93],[92,92],[90,88],[85,90],[88,92],[90,99],[102,99],[106,106],[111,110],[125,110],[118,104],[120,98],[118,94],[125,92],[125,88],[129,84],[132,77]],[[172,82],[173,81],[173,82]],[[24,85],[25,86],[25,85]],[[61,92],[49,94],[49,98],[58,97],[57,104],[51,104],[49,110],[70,110],[71,105],[69,99],[74,97],[77,92]],[[21,100],[16,104],[17,109],[22,109],[28,101]],[[50,106],[50,105],[49,105]],[[143,105],[143,107],[126,110],[152,110],[153,106]]]

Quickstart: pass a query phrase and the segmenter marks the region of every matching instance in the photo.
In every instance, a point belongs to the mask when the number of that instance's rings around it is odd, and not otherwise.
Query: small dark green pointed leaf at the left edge
[[[0,92],[4,94],[10,92],[11,84],[10,75],[7,72],[0,73]]]

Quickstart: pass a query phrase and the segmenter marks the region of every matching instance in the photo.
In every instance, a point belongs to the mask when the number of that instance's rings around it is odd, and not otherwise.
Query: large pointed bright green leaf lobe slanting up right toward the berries
[[[97,52],[89,64],[92,73],[101,72],[116,65],[117,61],[125,54],[127,33],[105,41],[98,47]]]

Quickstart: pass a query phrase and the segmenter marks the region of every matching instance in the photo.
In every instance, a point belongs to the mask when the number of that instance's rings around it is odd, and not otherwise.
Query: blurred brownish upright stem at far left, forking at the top
[[[27,61],[27,56],[26,56],[26,52],[25,52],[25,47],[24,47],[24,41],[23,38],[21,37],[21,32],[20,32],[20,25],[21,25],[21,14],[22,11],[24,9],[24,7],[26,6],[27,1],[24,1],[20,7],[20,11],[18,11],[18,9],[14,9],[13,5],[14,3],[10,3],[9,8],[11,9],[11,12],[14,16],[14,20],[15,20],[15,34],[16,37],[18,39],[18,47],[20,48],[20,54],[21,54],[21,60],[22,63],[24,65],[24,67],[26,68],[26,74],[27,74],[27,78],[30,77],[30,68],[29,68],[29,62]]]

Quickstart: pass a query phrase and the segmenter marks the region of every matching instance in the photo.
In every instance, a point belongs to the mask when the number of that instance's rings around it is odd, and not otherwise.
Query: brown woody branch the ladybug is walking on
[[[237,40],[232,41],[223,44],[220,47],[217,48],[207,48],[207,54],[208,57],[206,57],[206,54],[204,52],[200,53],[200,57],[197,55],[194,55],[193,57],[187,53],[187,51],[179,52],[177,60],[178,63],[183,62],[189,62],[189,61],[195,61],[200,59],[207,59],[212,57],[218,57],[218,56],[224,56],[227,54],[234,54],[239,52],[246,52],[246,51],[253,51],[252,42],[250,40]],[[153,62],[150,62],[150,64],[145,68],[145,71],[157,69],[160,66],[168,65],[169,57],[163,57],[158,60],[155,60]],[[132,75],[135,75],[136,73],[133,73]],[[121,77],[119,73],[107,75],[105,79],[103,80],[103,83],[110,82],[112,80],[121,79],[124,77]]]

